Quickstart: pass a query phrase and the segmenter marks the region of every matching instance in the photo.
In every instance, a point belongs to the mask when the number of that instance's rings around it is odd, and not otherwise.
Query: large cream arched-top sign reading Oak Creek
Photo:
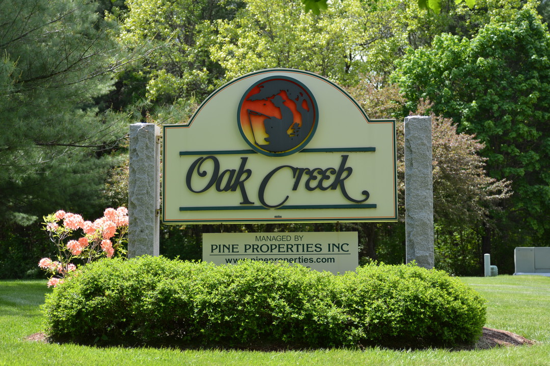
[[[397,221],[395,121],[310,72],[241,76],[163,140],[164,223]]]

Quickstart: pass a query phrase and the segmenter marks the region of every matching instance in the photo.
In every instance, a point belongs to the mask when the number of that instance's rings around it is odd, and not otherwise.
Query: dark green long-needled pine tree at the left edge
[[[116,25],[88,1],[0,2],[0,202],[2,221],[29,223],[63,205],[98,209],[126,133],[124,116],[98,114],[95,98],[127,63]]]

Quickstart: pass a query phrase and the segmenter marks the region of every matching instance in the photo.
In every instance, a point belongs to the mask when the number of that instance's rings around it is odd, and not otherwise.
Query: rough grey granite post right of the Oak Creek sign
[[[432,119],[405,117],[406,261],[433,268]]]

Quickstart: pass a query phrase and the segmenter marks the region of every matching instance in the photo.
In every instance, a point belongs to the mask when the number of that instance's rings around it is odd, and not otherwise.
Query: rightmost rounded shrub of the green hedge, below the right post
[[[410,346],[471,342],[485,323],[485,302],[457,278],[414,264],[375,266],[339,280],[342,307],[371,341]]]

